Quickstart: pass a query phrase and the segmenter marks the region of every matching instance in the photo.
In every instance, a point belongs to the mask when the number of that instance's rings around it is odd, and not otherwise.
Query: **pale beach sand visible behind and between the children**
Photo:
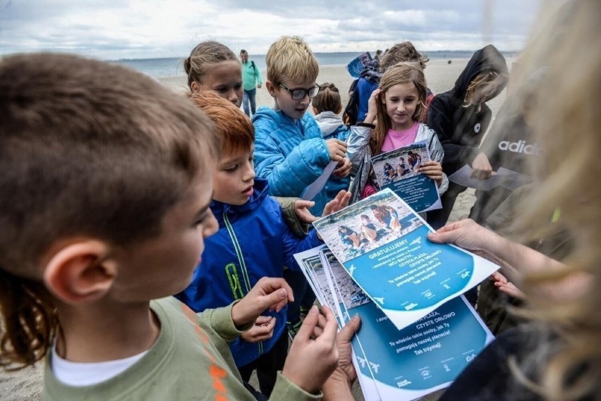
[[[449,60],[432,60],[427,64],[425,69],[425,75],[427,85],[430,87],[432,92],[440,93],[450,90],[454,82],[465,68],[468,59],[457,59],[452,60],[449,64]],[[507,59],[507,65],[511,66],[511,59]],[[267,73],[265,70],[261,71],[262,76],[265,80]],[[159,78],[167,87],[171,88],[176,92],[186,92],[186,77],[172,77],[172,78]],[[331,82],[339,88],[342,98],[342,104],[346,105],[348,101],[348,88],[353,82],[353,78],[349,75],[344,66],[323,66],[320,68],[320,75],[317,77],[317,82]],[[497,110],[502,104],[504,99],[504,93],[488,102],[493,112],[493,116],[497,113]],[[265,85],[257,90],[257,107],[258,106],[272,106],[272,97],[265,89]],[[470,208],[474,203],[475,198],[473,197],[473,190],[467,190],[463,192],[457,198],[449,221],[456,221],[461,218],[466,218],[469,214]],[[0,401],[37,401],[40,400],[40,390],[42,388],[42,368],[44,364],[39,363],[35,368],[23,369],[16,372],[5,372],[0,369]],[[255,383],[256,384],[256,383]],[[362,400],[360,396],[360,390],[355,388],[355,394],[358,400]],[[439,394],[439,393],[437,393]],[[425,397],[424,400],[436,400],[437,395],[430,395]]]

